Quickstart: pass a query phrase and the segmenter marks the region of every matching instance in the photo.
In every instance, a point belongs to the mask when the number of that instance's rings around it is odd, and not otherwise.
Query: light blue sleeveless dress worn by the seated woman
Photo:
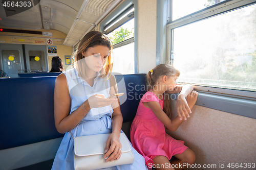
[[[96,93],[104,94],[106,98],[109,95],[106,91],[106,85],[108,87],[108,90],[110,91],[110,80],[107,80],[105,84],[103,79],[96,77],[94,79],[94,85],[91,87],[85,80],[78,76],[78,71],[75,68],[67,70],[63,74],[65,74],[67,78],[69,87],[71,99],[70,114],[72,114],[72,112],[75,111],[90,96]],[[113,113],[112,108],[111,110]],[[71,130],[71,133],[74,137],[111,132],[112,124],[110,106],[91,109],[89,113],[86,116],[84,116],[81,122],[74,129]],[[144,158],[133,147],[132,152],[134,154],[133,164],[119,165],[105,169],[146,170],[147,167],[145,165]],[[74,140],[70,132],[66,132],[60,143],[59,149],[53,162],[52,169],[74,169]]]

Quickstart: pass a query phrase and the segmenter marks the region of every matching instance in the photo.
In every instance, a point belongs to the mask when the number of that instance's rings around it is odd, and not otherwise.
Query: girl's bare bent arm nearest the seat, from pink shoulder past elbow
[[[157,118],[164,124],[170,131],[176,131],[184,120],[180,120],[177,116],[173,120],[164,113],[158,102],[143,102],[144,106],[150,108]]]

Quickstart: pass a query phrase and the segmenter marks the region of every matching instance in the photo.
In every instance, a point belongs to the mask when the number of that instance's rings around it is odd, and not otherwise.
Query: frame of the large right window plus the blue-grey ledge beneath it
[[[167,61],[173,63],[173,29],[252,4],[256,4],[256,2],[253,0],[226,0],[168,22],[166,45]],[[172,15],[170,16],[172,17]],[[189,84],[193,85],[194,89],[199,92],[196,105],[256,119],[256,92]]]

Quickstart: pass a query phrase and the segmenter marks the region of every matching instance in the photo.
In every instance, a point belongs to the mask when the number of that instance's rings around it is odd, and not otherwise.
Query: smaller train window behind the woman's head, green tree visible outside
[[[138,4],[125,0],[101,22],[100,30],[113,42],[113,72],[137,73],[137,13]]]

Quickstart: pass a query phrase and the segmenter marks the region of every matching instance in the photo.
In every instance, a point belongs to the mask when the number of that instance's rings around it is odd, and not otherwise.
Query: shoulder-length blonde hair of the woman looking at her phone
[[[85,53],[89,47],[95,47],[97,45],[106,46],[110,49],[110,55],[108,56],[106,63],[100,72],[101,78],[105,78],[106,76],[108,76],[107,77],[108,79],[110,77],[109,72],[112,71],[112,67],[113,67],[113,62],[111,58],[111,54],[113,50],[112,41],[109,39],[108,36],[106,36],[105,34],[99,31],[91,31],[86,35],[84,35],[75,53],[73,54],[74,67],[78,70],[79,77],[86,78],[86,68],[88,68],[88,66],[86,65],[86,62],[81,60],[84,58],[84,56],[82,56],[82,52]]]

